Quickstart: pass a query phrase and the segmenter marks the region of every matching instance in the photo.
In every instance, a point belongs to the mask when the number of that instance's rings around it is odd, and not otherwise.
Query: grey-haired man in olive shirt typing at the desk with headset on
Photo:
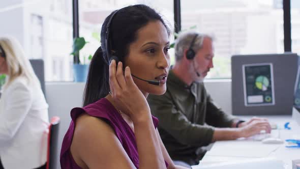
[[[249,137],[265,130],[266,119],[242,121],[225,114],[207,94],[203,78],[214,67],[213,38],[196,32],[183,33],[175,42],[175,65],[167,77],[167,91],[148,96],[151,112],[159,119],[159,132],[173,160],[199,163],[201,147],[217,140]]]

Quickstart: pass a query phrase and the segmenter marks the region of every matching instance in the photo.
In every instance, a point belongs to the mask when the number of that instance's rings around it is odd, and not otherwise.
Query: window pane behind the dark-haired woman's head
[[[170,23],[170,29],[173,30],[173,1],[151,1],[151,0],[82,0],[79,1],[79,37],[84,37],[89,43],[80,51],[80,61],[87,60],[90,54],[94,54],[100,46],[100,31],[105,18],[114,10],[126,7],[128,5],[145,4],[154,8],[163,15],[163,18]],[[173,35],[170,36],[173,38]],[[170,39],[172,42],[173,39]],[[172,54],[172,50],[170,52]],[[172,57],[172,60],[174,58]]]

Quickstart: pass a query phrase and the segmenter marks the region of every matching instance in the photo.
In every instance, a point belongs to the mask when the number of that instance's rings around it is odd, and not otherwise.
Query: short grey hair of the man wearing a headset
[[[207,38],[211,39],[212,41],[214,40],[214,38],[210,35],[199,34],[197,32],[185,32],[185,33],[179,34],[179,36],[175,40],[175,47],[174,47],[176,61],[180,61],[183,58],[183,56],[185,54],[184,53],[185,49],[190,48],[192,40],[194,39],[194,37],[196,35],[197,35],[197,38],[195,39],[194,44],[191,47],[195,51],[195,53],[197,53],[197,51],[203,47],[204,38],[207,37]]]

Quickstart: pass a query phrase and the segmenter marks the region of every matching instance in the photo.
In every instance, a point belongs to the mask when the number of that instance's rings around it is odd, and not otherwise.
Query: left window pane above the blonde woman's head
[[[73,81],[72,1],[2,1],[0,32],[14,36],[28,59],[43,59],[46,81]]]

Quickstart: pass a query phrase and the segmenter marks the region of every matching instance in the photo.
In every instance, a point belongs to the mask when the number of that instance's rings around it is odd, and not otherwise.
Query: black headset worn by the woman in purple
[[[117,63],[119,62],[119,59],[116,55],[114,55],[114,52],[112,53],[111,52],[111,40],[109,39],[109,27],[110,27],[110,24],[111,24],[111,21],[113,19],[113,16],[117,13],[118,10],[115,10],[113,11],[113,13],[111,14],[107,24],[106,24],[106,33],[105,33],[105,43],[106,43],[106,54],[107,54],[107,58],[109,59],[109,62],[108,64],[110,64],[110,62],[112,60],[115,60],[115,63],[117,65]],[[123,68],[124,70],[124,68]],[[142,80],[142,81],[146,81],[148,82],[149,84],[151,85],[156,85],[156,86],[159,86],[160,85],[160,80],[145,80],[145,79],[142,79],[142,78],[139,78],[133,74],[131,74],[133,77],[139,79],[139,80]]]

